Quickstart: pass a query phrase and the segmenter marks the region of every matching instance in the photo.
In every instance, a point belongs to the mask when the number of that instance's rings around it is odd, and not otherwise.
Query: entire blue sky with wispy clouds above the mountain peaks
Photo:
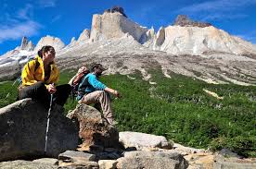
[[[216,28],[256,43],[256,0],[0,0],[0,54],[14,49],[27,36],[36,44],[51,35],[69,44],[92,16],[122,6],[128,18],[147,28],[173,24],[178,14],[210,22]]]

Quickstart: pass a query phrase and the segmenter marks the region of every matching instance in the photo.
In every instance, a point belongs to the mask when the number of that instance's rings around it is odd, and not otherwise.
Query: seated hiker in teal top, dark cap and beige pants
[[[113,125],[113,113],[109,93],[120,97],[119,91],[113,90],[99,81],[102,72],[106,70],[101,64],[91,67],[91,73],[87,74],[78,88],[78,103],[100,103],[104,117],[110,125]]]

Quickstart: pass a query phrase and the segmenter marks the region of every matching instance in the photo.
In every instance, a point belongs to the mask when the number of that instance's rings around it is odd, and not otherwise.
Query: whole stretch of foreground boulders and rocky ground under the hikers
[[[67,116],[57,105],[53,107],[45,152],[45,107],[25,99],[0,109],[0,168],[256,167],[256,159],[243,159],[229,150],[213,153],[185,147],[162,136],[118,132],[95,108],[85,104],[78,104]]]

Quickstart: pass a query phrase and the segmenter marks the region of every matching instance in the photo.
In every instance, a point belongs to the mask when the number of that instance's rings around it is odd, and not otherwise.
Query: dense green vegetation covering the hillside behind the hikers
[[[177,74],[165,78],[158,69],[150,73],[151,81],[157,84],[149,84],[139,73],[102,77],[109,87],[122,93],[112,104],[121,131],[152,133],[191,147],[212,151],[228,148],[256,157],[256,87],[207,84]],[[67,83],[73,74],[62,72],[59,83]],[[1,107],[16,100],[17,84],[12,84],[0,84]],[[66,113],[76,103],[70,98]]]

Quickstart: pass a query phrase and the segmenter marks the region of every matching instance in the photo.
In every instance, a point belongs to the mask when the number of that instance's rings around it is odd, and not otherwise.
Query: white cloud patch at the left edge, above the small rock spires
[[[18,40],[23,36],[36,35],[40,27],[40,24],[32,20],[1,27],[0,42],[4,42],[6,40]]]

